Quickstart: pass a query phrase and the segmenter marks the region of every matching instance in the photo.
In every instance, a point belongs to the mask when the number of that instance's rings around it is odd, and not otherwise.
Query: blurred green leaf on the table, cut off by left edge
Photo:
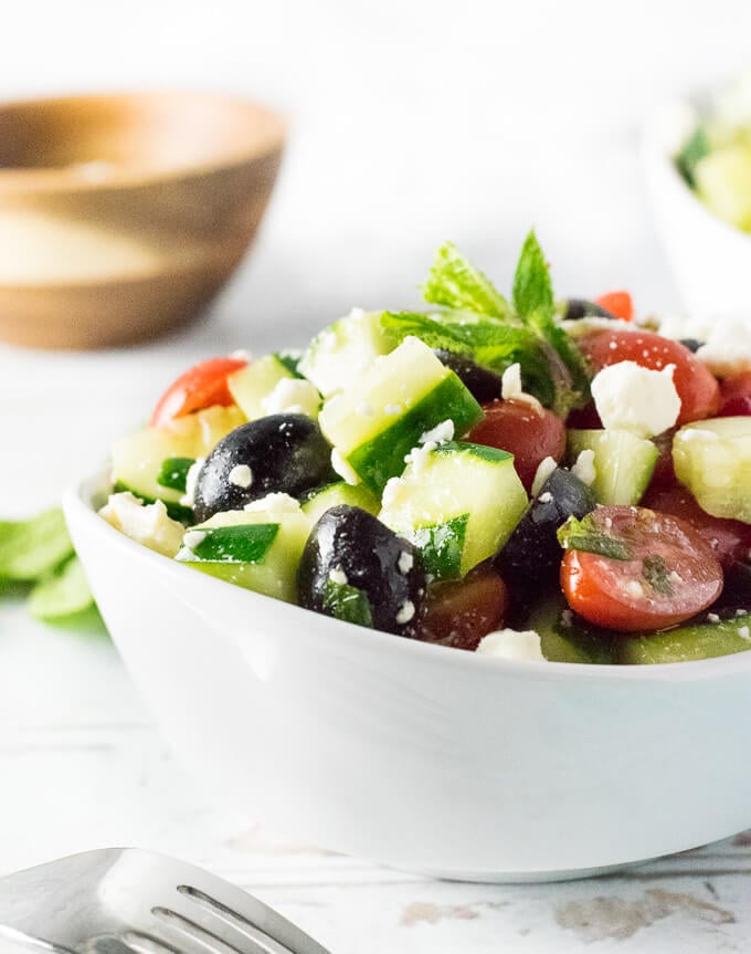
[[[73,555],[63,512],[0,523],[0,578],[35,580]]]

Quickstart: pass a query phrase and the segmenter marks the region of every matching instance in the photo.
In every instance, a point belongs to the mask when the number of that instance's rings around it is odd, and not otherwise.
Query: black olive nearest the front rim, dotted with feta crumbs
[[[308,537],[297,591],[307,609],[405,635],[417,620],[425,575],[409,541],[367,511],[339,504]]]

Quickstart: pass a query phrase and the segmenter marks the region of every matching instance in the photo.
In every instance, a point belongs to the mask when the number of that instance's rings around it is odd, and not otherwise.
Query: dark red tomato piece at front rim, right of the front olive
[[[480,564],[464,579],[429,589],[415,639],[474,652],[484,636],[503,627],[507,609],[504,580],[490,566]]]

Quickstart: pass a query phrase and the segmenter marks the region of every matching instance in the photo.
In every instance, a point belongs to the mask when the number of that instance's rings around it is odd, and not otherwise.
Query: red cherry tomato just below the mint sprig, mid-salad
[[[561,460],[565,452],[565,424],[552,411],[529,401],[497,400],[485,405],[485,418],[468,441],[514,454],[514,466],[527,492],[544,458]]]

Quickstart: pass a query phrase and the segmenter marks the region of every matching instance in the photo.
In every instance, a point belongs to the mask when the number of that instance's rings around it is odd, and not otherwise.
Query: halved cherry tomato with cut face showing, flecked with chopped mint
[[[706,609],[722,590],[722,567],[704,537],[681,520],[645,507],[603,506],[588,517],[600,539],[628,557],[567,549],[561,587],[571,609],[622,632],[667,629]]]

